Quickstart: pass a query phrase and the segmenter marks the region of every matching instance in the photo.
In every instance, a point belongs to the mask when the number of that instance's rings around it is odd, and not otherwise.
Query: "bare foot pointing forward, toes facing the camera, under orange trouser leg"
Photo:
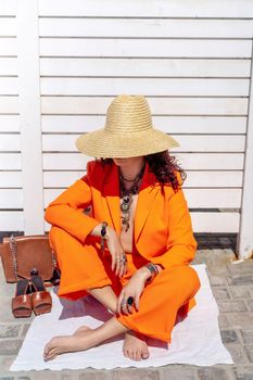
[[[148,344],[143,335],[136,334],[134,331],[125,333],[123,353],[132,360],[147,359],[150,356]]]

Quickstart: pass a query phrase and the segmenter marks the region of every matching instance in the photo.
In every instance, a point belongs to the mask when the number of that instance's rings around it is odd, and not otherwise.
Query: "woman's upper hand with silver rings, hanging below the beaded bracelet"
[[[106,245],[112,256],[112,270],[115,270],[116,276],[124,276],[127,271],[126,254],[122,243],[113,228],[107,227]]]

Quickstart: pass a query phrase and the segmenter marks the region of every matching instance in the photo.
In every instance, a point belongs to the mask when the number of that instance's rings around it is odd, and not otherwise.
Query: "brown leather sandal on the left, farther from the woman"
[[[33,304],[30,286],[27,279],[18,280],[16,294],[12,299],[12,313],[15,318],[28,318],[31,315]]]

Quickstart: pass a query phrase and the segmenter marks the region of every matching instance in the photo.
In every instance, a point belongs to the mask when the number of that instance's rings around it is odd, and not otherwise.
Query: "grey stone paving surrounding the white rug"
[[[228,242],[227,242],[228,243]],[[10,372],[33,317],[15,319],[10,300],[15,286],[4,282],[0,266],[0,380],[253,380],[253,259],[236,263],[231,249],[198,250],[193,264],[206,263],[220,315],[223,342],[235,365],[168,365],[144,369]]]

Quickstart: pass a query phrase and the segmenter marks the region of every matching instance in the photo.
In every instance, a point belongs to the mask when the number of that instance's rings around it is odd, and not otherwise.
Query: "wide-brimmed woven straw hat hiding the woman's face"
[[[163,152],[179,143],[153,128],[144,97],[123,94],[107,107],[105,127],[81,135],[76,147],[93,157],[124,159]]]

